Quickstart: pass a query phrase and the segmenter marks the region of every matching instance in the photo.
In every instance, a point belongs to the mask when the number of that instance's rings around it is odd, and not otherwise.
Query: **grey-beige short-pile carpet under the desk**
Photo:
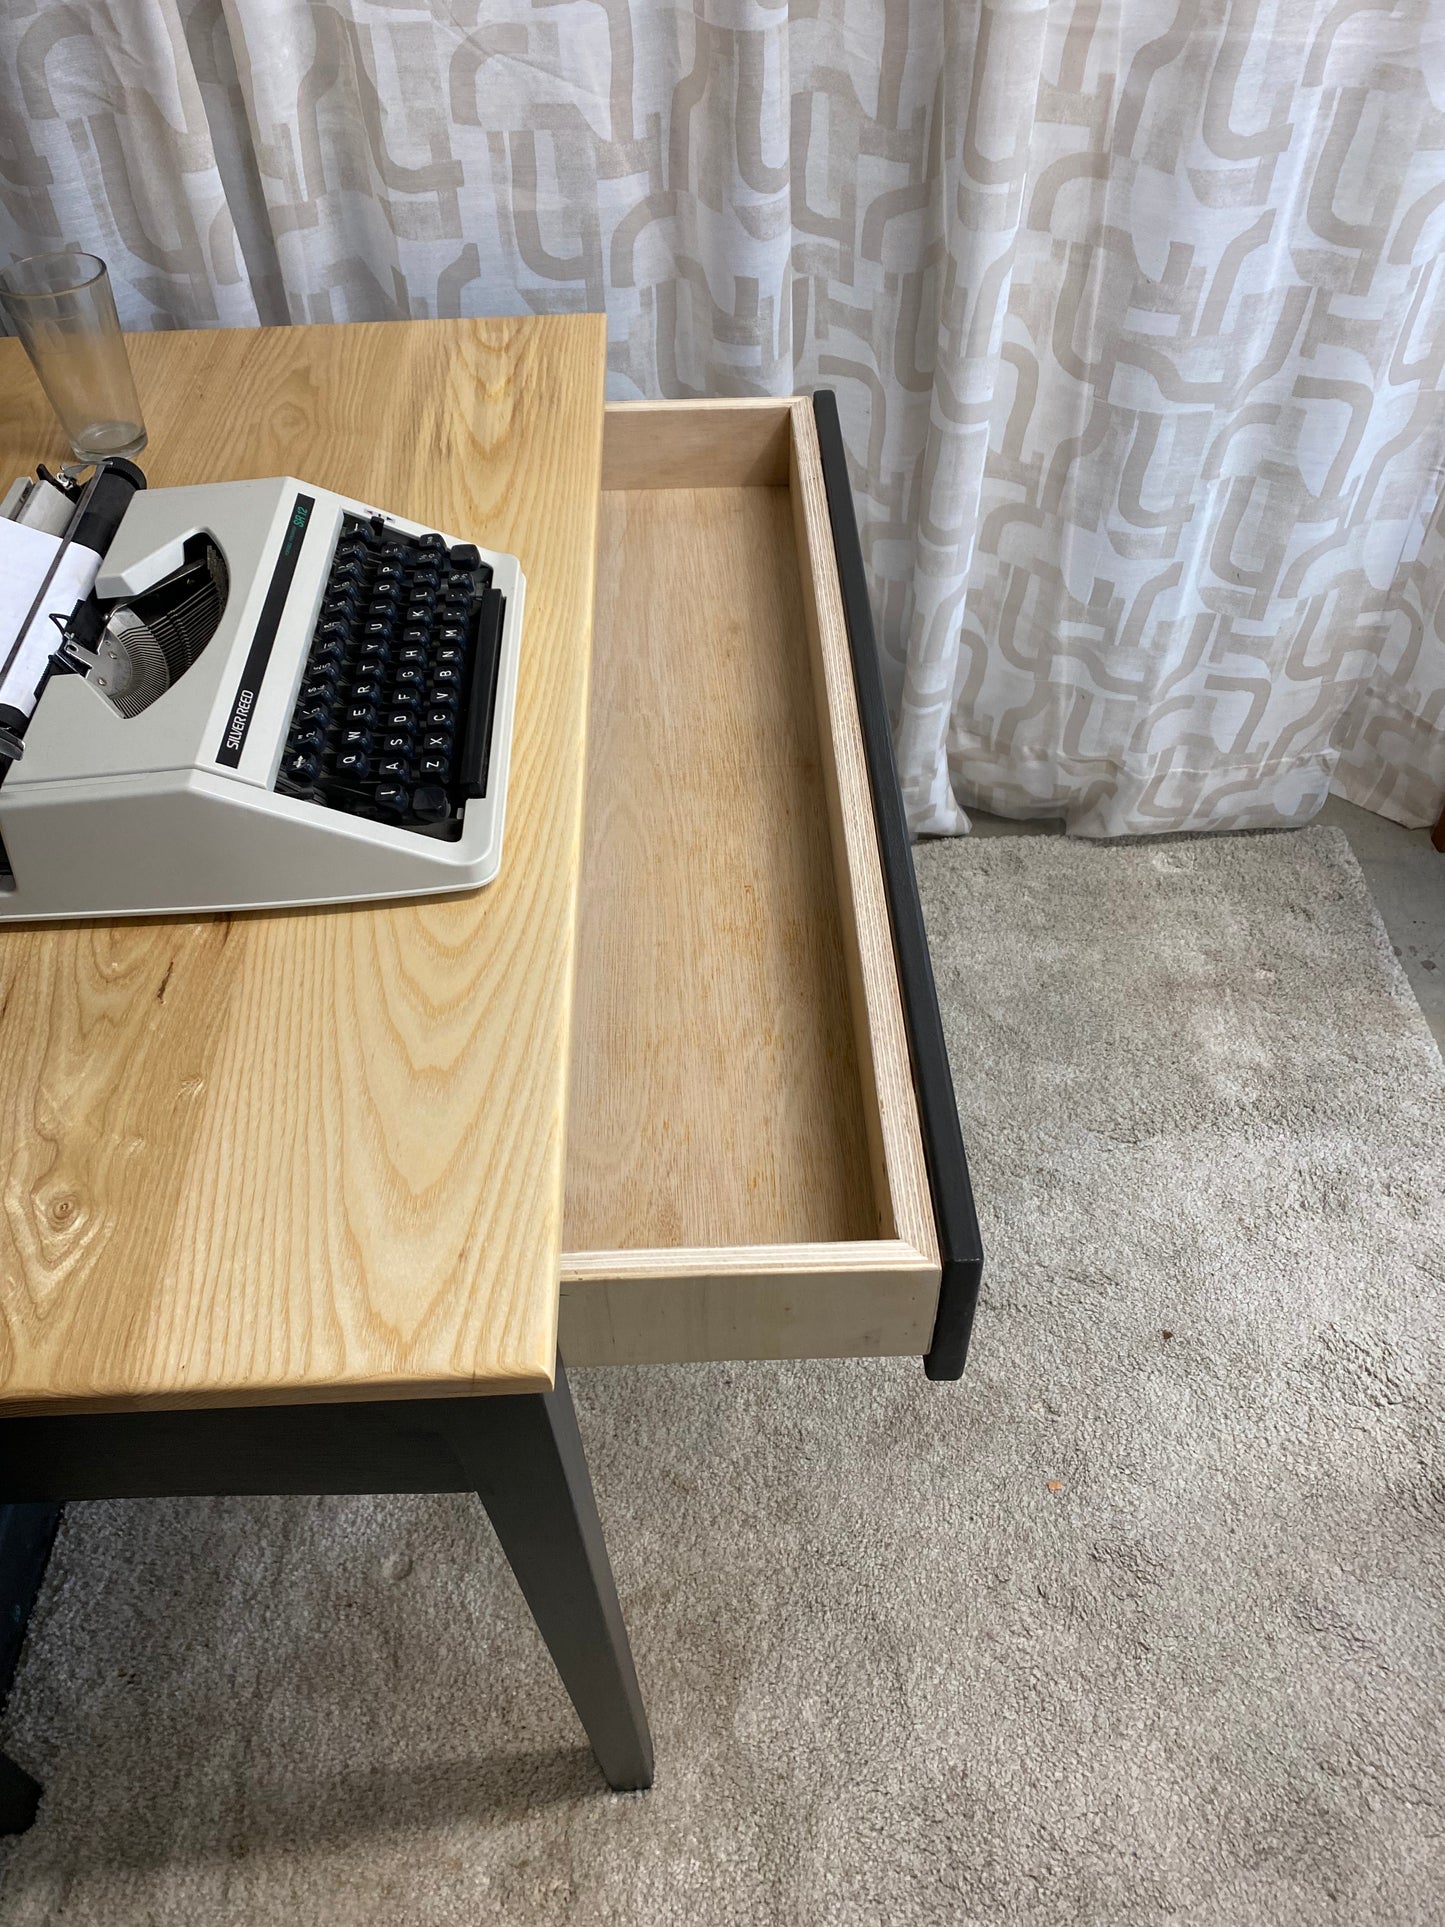
[[[1445,1079],[1345,836],[919,871],[963,1384],[578,1374],[655,1790],[472,1503],[77,1509],[6,1923],[1441,1917]]]

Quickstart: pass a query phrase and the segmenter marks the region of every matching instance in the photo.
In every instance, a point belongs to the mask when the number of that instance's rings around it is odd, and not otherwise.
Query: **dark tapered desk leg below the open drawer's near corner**
[[[445,1416],[609,1786],[651,1786],[647,1713],[563,1360],[555,1391],[453,1399]]]

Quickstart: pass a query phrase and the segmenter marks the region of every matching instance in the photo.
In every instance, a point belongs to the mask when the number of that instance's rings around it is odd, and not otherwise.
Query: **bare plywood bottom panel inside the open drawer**
[[[788,491],[601,503],[566,1251],[877,1237]]]

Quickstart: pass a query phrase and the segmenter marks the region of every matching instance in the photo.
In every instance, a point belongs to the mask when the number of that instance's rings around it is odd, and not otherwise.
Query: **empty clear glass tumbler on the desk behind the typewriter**
[[[106,264],[66,249],[0,270],[0,304],[83,462],[146,445]]]

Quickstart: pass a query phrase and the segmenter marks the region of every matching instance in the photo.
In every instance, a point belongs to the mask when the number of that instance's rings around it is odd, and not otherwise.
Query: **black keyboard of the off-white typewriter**
[[[343,516],[277,788],[459,834],[487,794],[503,613],[470,543]]]

